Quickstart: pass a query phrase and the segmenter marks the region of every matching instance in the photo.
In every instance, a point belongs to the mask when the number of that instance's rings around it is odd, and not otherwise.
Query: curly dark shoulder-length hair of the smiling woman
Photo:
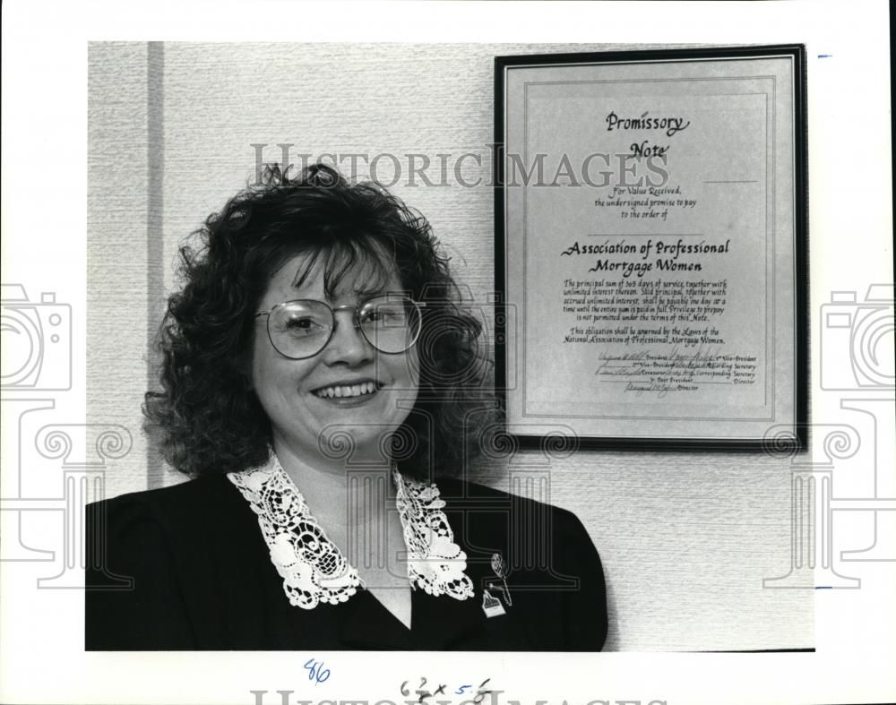
[[[254,314],[280,266],[311,254],[323,258],[328,297],[360,263],[382,283],[397,269],[409,295],[426,302],[418,400],[392,436],[393,458],[407,477],[461,473],[478,452],[470,439],[487,426],[481,414],[495,410],[489,361],[481,323],[461,305],[422,215],[324,164],[294,178],[271,167],[193,236],[200,243],[180,248],[183,288],[159,329],[161,391],[148,391],[143,406],[144,428],[175,469],[196,477],[267,460],[271,423],[246,376]]]

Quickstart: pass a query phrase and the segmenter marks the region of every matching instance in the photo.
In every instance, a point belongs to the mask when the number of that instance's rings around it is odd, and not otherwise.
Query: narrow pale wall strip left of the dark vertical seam
[[[134,448],[108,496],[146,486],[139,433],[151,324],[150,47],[90,44],[87,163],[87,416],[122,424]]]

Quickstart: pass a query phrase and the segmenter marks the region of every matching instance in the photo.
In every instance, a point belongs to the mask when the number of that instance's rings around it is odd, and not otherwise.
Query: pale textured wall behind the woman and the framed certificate
[[[254,179],[251,144],[269,145],[265,160],[279,159],[281,142],[295,145],[293,155],[418,152],[435,160],[472,152],[481,166],[468,159],[462,176],[487,181],[493,57],[607,48],[91,46],[91,419],[139,428],[147,340],[172,285],[177,245]],[[391,176],[389,162],[380,164],[381,176]],[[451,174],[448,181],[413,187],[403,178],[392,190],[426,214],[456,273],[484,300],[493,286],[492,191],[461,187]],[[122,336],[122,326],[134,335]],[[135,440],[110,494],[179,481]],[[509,462],[546,469],[533,452]],[[507,463],[478,472],[507,488]],[[549,474],[550,501],[579,515],[604,559],[614,617],[608,649],[813,645],[811,591],[762,589],[762,578],[790,564],[787,460],[588,451],[552,460]]]

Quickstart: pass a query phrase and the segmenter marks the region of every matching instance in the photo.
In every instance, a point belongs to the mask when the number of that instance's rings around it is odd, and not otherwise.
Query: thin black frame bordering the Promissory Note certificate
[[[504,194],[505,152],[505,70],[508,67],[533,67],[584,64],[657,64],[683,61],[738,61],[745,58],[786,57],[792,62],[793,79],[793,382],[794,418],[787,435],[768,438],[668,438],[659,436],[593,436],[577,435],[576,443],[583,449],[614,449],[634,451],[762,451],[773,447],[775,451],[806,451],[809,442],[808,428],[808,179],[807,179],[807,119],[806,119],[806,47],[802,44],[769,45],[754,47],[694,47],[677,49],[649,49],[644,51],[583,52],[567,54],[532,54],[521,56],[495,56],[495,391],[503,408],[507,408],[508,392],[508,336],[505,305],[507,302],[507,238]],[[774,111],[772,111],[774,113]],[[774,116],[772,116],[774,125]],[[768,185],[766,186],[768,188]],[[774,217],[774,213],[771,213]],[[768,238],[766,238],[768,246]],[[774,258],[772,257],[772,260]],[[774,265],[773,265],[774,266]],[[773,282],[772,282],[773,286]],[[774,316],[772,305],[772,316]],[[519,323],[519,322],[518,322]],[[772,323],[774,325],[774,323]],[[768,335],[767,335],[768,338]],[[768,361],[767,361],[768,363]],[[517,375],[518,376],[518,375]],[[771,383],[775,383],[772,374]],[[522,383],[515,385],[519,390]],[[773,403],[773,402],[772,402]],[[578,418],[578,417],[576,417]],[[616,418],[616,417],[614,417]],[[638,417],[641,418],[641,417]],[[781,425],[775,427],[780,428]],[[542,434],[511,434],[522,447],[540,447],[546,437]]]

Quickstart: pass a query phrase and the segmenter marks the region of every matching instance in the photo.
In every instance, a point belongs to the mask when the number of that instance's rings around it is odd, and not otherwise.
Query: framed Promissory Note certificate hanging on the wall
[[[496,57],[508,433],[806,446],[805,66],[802,46]]]

